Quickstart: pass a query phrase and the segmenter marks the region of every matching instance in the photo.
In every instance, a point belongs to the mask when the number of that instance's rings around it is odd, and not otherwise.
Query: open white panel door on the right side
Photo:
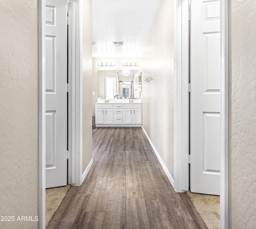
[[[190,190],[220,195],[220,0],[192,0],[190,23]]]

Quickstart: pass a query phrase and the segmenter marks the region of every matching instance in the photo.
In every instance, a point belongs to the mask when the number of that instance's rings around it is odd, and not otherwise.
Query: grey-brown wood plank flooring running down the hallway
[[[176,193],[140,127],[92,129],[94,163],[47,229],[206,229]]]

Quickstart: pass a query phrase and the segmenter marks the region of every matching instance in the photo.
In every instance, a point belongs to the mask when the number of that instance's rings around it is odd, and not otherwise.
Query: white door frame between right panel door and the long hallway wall
[[[174,189],[189,189],[189,5],[174,0]]]

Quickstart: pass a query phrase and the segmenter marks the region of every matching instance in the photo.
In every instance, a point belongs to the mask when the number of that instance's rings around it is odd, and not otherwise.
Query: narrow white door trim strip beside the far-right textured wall
[[[228,224],[228,1],[220,1],[220,228]]]

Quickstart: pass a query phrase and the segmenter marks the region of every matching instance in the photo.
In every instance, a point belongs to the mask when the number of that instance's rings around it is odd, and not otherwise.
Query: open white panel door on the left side
[[[46,188],[67,184],[66,0],[46,0]]]

